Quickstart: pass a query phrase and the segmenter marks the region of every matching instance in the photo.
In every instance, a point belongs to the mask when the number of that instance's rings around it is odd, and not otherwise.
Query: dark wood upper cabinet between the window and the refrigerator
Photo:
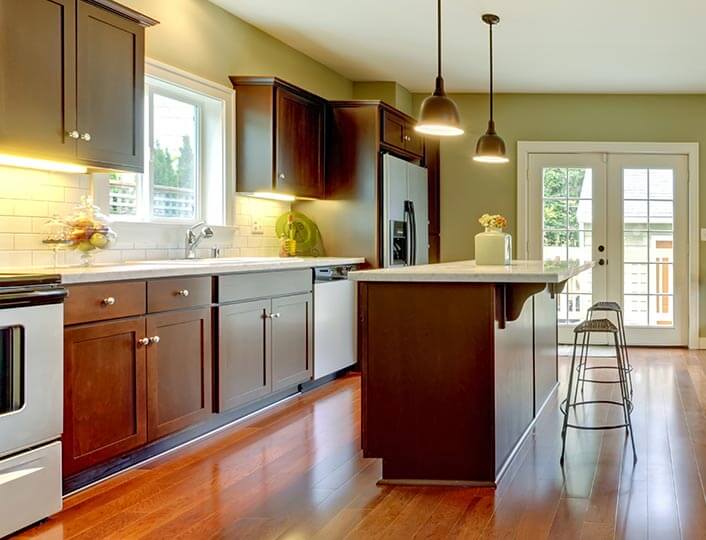
[[[230,79],[237,191],[323,198],[326,101],[276,77]]]

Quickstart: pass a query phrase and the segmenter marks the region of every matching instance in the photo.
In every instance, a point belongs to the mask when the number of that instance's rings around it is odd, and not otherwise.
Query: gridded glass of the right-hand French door
[[[674,171],[623,169],[625,322],[673,326]]]

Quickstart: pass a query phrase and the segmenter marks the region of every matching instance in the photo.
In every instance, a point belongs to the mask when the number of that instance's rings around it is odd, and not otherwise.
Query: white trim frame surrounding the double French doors
[[[689,185],[689,348],[699,349],[699,143],[517,142],[517,256],[528,257],[530,154],[678,154],[688,160]]]

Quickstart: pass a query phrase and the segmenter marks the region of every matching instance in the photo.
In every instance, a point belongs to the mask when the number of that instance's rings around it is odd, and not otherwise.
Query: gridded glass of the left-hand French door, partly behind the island
[[[593,171],[584,167],[542,169],[542,258],[547,261],[591,260]],[[571,279],[559,297],[560,324],[576,324],[592,303],[592,275]]]

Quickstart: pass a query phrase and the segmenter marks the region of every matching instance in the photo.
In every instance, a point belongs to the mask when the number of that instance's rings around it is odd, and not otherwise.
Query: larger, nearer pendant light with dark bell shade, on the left
[[[441,76],[441,0],[437,8],[437,74],[434,93],[422,102],[415,131],[425,135],[451,137],[463,135],[461,115],[453,100],[446,95]]]

